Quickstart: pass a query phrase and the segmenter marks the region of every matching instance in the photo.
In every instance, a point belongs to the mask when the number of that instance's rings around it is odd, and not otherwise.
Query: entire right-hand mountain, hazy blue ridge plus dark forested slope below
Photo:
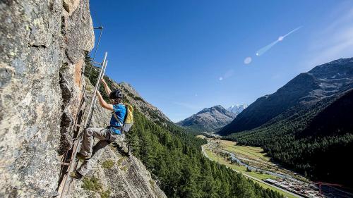
[[[352,188],[353,58],[297,75],[258,98],[218,133],[269,156],[311,180]],[[347,173],[346,173],[347,172]],[[345,176],[342,176],[345,174]]]

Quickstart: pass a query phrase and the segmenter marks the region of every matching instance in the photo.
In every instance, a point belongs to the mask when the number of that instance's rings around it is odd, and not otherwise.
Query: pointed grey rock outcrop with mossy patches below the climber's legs
[[[82,181],[73,180],[71,189],[68,197],[166,197],[140,160],[121,156],[113,146]]]

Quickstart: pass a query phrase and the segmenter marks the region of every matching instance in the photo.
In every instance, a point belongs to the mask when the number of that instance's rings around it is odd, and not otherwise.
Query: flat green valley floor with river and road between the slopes
[[[239,146],[236,142],[227,140],[207,140],[208,144],[202,147],[205,156],[242,173],[262,187],[279,192],[285,197],[321,197],[313,183],[271,162],[263,149]]]

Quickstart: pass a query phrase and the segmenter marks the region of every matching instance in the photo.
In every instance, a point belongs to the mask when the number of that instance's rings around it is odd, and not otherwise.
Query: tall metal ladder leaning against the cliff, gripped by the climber
[[[100,38],[101,38],[103,27],[95,27],[95,29],[101,30],[100,31]],[[78,108],[79,111],[76,116],[75,123],[73,125],[73,128],[74,128],[74,130],[73,130],[73,144],[72,144],[71,149],[66,151],[66,153],[64,154],[64,156],[61,159],[61,168],[60,168],[59,182],[58,182],[58,188],[57,188],[58,194],[56,194],[54,197],[60,197],[60,198],[65,197],[66,193],[70,191],[71,183],[73,181],[73,178],[70,177],[70,173],[72,173],[73,171],[76,171],[76,168],[78,166],[78,159],[76,159],[76,154],[80,149],[80,142],[82,141],[83,130],[85,130],[86,128],[88,128],[90,126],[90,122],[92,120],[92,115],[95,110],[95,104],[97,102],[96,93],[97,93],[97,90],[100,88],[100,82],[101,82],[102,78],[104,77],[105,69],[107,68],[107,63],[108,63],[107,52],[105,52],[105,54],[104,54],[104,58],[103,58],[102,63],[95,62],[95,55],[97,53],[97,49],[100,44],[100,38],[98,40],[95,54],[92,59],[92,65],[93,65],[92,67],[94,67],[94,65],[101,66],[100,75],[98,75],[97,82],[95,83],[95,90],[92,95],[90,107],[88,110],[88,116],[86,117],[84,124],[81,124],[81,123],[83,123],[83,116],[85,114],[85,109],[87,107],[86,101],[85,101],[86,86],[83,87],[82,99],[80,101],[80,106]],[[92,72],[92,69],[93,68],[91,68],[90,73]]]

